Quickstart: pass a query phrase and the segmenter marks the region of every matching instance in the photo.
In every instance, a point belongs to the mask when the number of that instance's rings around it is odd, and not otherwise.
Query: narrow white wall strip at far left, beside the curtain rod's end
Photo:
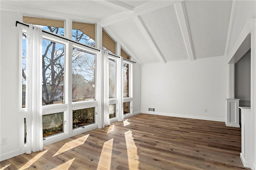
[[[1,145],[0,159],[10,153],[18,153],[18,29],[17,12],[1,10],[1,65],[0,65],[0,137],[8,143]]]

